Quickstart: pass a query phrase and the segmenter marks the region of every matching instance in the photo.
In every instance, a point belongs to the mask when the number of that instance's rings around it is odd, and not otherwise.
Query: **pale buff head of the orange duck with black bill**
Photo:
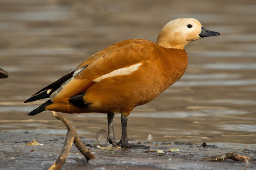
[[[194,18],[178,18],[162,28],[155,44],[165,48],[184,49],[189,42],[216,35],[219,33],[203,28]]]

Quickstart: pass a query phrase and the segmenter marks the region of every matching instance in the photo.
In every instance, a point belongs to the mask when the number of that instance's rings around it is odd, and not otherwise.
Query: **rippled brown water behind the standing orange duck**
[[[134,109],[128,137],[146,140],[151,133],[153,141],[255,149],[256,18],[251,16],[256,3],[226,2],[175,2],[175,8],[165,0],[157,6],[154,1],[0,2],[0,68],[9,72],[8,79],[0,80],[0,130],[64,136],[64,125],[50,112],[26,115],[44,101],[23,101],[114,42],[154,41],[169,20],[194,17],[221,36],[186,46],[185,75],[157,99]],[[198,9],[198,3],[204,8]],[[105,114],[64,115],[81,136],[95,138],[107,129]],[[120,138],[120,114],[114,128]]]

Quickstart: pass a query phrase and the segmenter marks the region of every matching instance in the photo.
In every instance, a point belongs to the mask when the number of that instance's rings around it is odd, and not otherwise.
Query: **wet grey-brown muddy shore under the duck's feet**
[[[47,135],[24,131],[20,133],[0,132],[0,170],[45,170],[58,158],[64,146],[63,135]],[[43,146],[27,146],[27,142],[35,139]],[[221,162],[198,161],[209,156],[228,152],[239,153],[255,158],[256,151],[248,149],[220,148],[216,145],[191,144],[185,142],[143,142],[150,149],[105,149],[98,148],[96,139],[81,138],[96,159],[86,161],[73,145],[70,155],[62,170],[235,170],[248,166],[248,170],[256,168],[256,162],[236,162],[231,159]],[[137,143],[137,140],[130,140]],[[101,144],[102,147],[111,146]],[[178,152],[168,152],[177,148]],[[155,151],[163,150],[163,154]]]

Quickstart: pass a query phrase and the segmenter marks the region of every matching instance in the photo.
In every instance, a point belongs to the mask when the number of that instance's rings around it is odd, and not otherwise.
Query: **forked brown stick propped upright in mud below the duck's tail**
[[[96,158],[95,156],[93,156],[93,154],[90,152],[90,150],[88,150],[84,146],[84,144],[81,142],[81,139],[79,138],[79,136],[76,133],[76,127],[71,126],[70,123],[67,121],[67,119],[64,116],[62,116],[61,114],[59,114],[55,111],[52,111],[52,115],[54,117],[56,117],[57,119],[61,120],[66,125],[68,131],[67,131],[65,144],[61,151],[60,156],[54,162],[54,164],[52,164],[52,166],[49,167],[48,170],[58,170],[59,168],[61,168],[61,166],[67,160],[67,157],[68,157],[68,154],[70,153],[73,142],[76,145],[76,147],[79,149],[79,151],[85,156],[87,161],[89,161],[90,159]]]

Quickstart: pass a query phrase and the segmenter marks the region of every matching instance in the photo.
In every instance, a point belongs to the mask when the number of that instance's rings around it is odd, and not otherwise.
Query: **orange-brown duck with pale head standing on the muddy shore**
[[[107,113],[107,142],[122,148],[149,148],[128,143],[128,115],[150,102],[185,73],[184,47],[204,37],[218,36],[194,18],[178,18],[161,29],[155,42],[130,39],[116,42],[85,59],[73,71],[41,89],[26,102],[49,98],[28,115],[43,111]],[[121,140],[113,130],[115,113],[121,113]]]

